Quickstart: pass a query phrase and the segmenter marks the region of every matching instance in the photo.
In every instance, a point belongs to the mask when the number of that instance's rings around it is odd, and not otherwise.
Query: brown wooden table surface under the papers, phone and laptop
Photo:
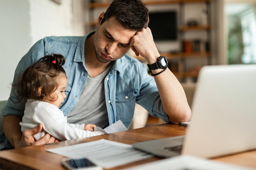
[[[58,148],[62,146],[69,146],[83,142],[95,141],[98,139],[107,139],[110,141],[117,141],[124,144],[132,144],[138,141],[147,141],[152,139],[161,139],[165,137],[174,137],[184,135],[186,126],[174,124],[161,124],[155,126],[148,126],[145,128],[138,128],[127,130],[123,132],[116,132],[108,135],[100,135],[96,137],[88,137],[84,139],[75,139],[70,141],[61,141],[54,144],[46,144],[41,146],[29,146],[25,148],[18,148],[13,150],[6,150],[0,152],[0,169],[3,170],[65,170],[60,161],[64,157],[55,155],[51,152],[45,151],[49,148]],[[159,160],[157,157],[145,159],[129,163],[124,166],[115,167],[109,170],[118,170],[130,166],[139,165],[151,161]],[[243,152],[236,155],[229,155],[214,159],[236,165],[256,168],[256,150],[250,152]]]

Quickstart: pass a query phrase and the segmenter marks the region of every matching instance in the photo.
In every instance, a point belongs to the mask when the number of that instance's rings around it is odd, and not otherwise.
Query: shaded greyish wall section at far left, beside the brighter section
[[[0,100],[6,100],[18,61],[31,46],[29,0],[0,0]]]

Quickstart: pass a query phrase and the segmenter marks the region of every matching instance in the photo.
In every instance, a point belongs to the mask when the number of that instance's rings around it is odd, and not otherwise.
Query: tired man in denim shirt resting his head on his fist
[[[97,19],[97,30],[83,37],[47,37],[39,40],[20,60],[13,83],[20,73],[40,57],[50,53],[66,58],[63,66],[68,77],[67,95],[61,106],[69,123],[90,122],[102,128],[119,119],[126,127],[133,118],[135,103],[150,115],[178,124],[189,121],[191,110],[184,90],[159,57],[148,25],[148,9],[140,0],[114,0]],[[129,49],[144,57],[144,64],[126,55]],[[160,68],[154,63],[161,61]],[[159,65],[159,64],[158,64]],[[2,112],[4,135],[11,146],[19,148],[58,141],[48,134],[34,141],[42,125],[20,131],[24,107],[17,104],[15,88]],[[2,134],[3,135],[3,134]],[[1,138],[2,142],[4,141]]]

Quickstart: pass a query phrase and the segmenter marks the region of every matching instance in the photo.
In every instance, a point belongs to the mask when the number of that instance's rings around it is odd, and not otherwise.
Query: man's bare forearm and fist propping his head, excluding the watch
[[[135,54],[144,57],[148,64],[157,62],[160,56],[151,30],[147,27],[137,32],[130,42],[132,51]],[[152,70],[153,74],[162,71],[162,68]],[[154,76],[161,102],[165,113],[174,124],[189,121],[191,109],[186,99],[182,85],[173,73],[167,68],[163,73]]]

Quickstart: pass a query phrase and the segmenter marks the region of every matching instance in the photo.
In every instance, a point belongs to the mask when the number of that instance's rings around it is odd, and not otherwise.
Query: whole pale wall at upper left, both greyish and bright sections
[[[82,5],[82,0],[75,0],[75,4]],[[0,100],[9,97],[15,68],[37,40],[84,34],[74,24],[73,0],[61,0],[61,4],[52,0],[0,0],[0,22]]]

